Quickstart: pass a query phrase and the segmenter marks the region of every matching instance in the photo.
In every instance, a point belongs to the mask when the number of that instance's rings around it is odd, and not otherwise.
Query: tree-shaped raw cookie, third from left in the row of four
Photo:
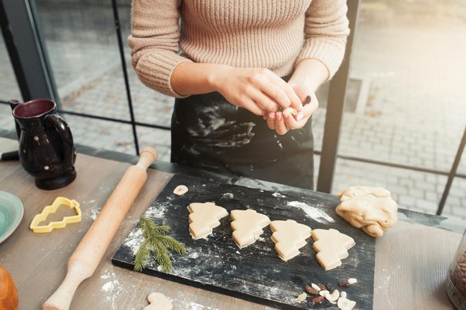
[[[271,239],[275,242],[275,250],[284,261],[299,255],[299,248],[306,245],[311,231],[310,227],[295,220],[274,220],[270,223],[270,229],[273,232]]]

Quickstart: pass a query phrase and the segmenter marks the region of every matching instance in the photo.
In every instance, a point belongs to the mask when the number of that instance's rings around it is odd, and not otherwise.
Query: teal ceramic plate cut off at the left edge
[[[23,203],[14,194],[0,190],[0,243],[15,231],[23,220]]]

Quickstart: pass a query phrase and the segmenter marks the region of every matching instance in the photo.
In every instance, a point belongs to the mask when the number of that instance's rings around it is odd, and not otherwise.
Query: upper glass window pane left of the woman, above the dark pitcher
[[[130,120],[110,1],[38,1],[62,108]]]

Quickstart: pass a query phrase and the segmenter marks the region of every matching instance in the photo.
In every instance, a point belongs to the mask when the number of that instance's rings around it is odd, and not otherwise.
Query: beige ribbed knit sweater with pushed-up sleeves
[[[332,77],[349,34],[346,12],[345,0],[133,0],[132,64],[146,86],[177,97],[170,80],[180,62],[284,76],[314,58]]]

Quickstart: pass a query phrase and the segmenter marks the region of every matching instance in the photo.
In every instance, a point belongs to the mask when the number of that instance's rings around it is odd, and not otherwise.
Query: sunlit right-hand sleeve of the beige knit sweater
[[[296,64],[313,58],[328,69],[331,79],[345,55],[349,34],[346,0],[312,0],[306,11],[304,46]]]

